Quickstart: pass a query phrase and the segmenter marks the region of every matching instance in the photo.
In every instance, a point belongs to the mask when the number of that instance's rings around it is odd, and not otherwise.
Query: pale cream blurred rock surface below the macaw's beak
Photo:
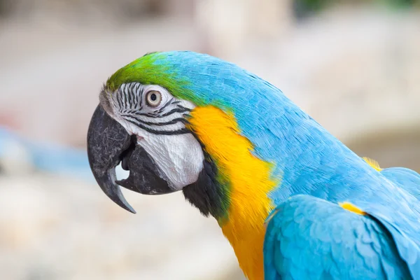
[[[0,176],[0,186],[2,279],[210,280],[239,272],[216,221],[181,193],[125,192],[133,215],[99,187],[65,177]]]

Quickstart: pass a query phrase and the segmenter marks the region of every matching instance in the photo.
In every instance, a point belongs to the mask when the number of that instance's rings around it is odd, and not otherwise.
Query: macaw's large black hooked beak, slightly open
[[[127,211],[136,213],[121,193],[120,186],[145,195],[172,193],[165,176],[137,138],[97,106],[87,132],[87,158],[94,178],[104,193]],[[117,181],[116,166],[130,170],[127,179]],[[119,186],[118,186],[119,185]]]

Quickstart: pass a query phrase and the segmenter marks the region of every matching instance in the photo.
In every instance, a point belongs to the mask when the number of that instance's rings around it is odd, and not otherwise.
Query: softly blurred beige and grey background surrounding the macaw
[[[1,279],[244,279],[181,193],[125,191],[132,215],[90,174],[102,83],[155,50],[235,62],[358,155],[420,171],[420,1],[0,0]]]

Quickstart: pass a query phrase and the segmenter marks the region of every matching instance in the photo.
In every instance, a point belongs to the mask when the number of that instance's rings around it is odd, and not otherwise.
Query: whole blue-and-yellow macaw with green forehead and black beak
[[[111,200],[134,213],[120,186],[182,190],[248,279],[420,280],[420,175],[360,158],[235,64],[187,51],[134,60],[104,85],[87,144]]]

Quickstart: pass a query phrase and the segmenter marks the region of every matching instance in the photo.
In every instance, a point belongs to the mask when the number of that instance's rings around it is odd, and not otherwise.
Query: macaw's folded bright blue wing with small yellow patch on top
[[[295,195],[266,224],[265,279],[420,280],[419,247],[351,204]]]

